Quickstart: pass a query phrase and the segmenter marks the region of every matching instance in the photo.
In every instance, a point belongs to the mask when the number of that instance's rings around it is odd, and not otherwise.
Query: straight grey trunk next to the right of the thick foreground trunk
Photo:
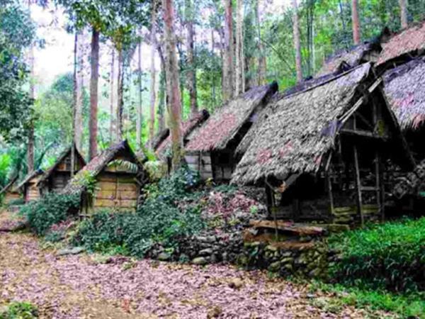
[[[191,102],[191,114],[194,115],[198,113],[198,97],[196,92],[196,66],[195,66],[195,57],[193,52],[193,38],[195,36],[195,31],[193,30],[193,0],[186,0],[186,50],[188,55],[188,72],[187,72],[187,82],[188,82],[188,91],[189,99]]]

